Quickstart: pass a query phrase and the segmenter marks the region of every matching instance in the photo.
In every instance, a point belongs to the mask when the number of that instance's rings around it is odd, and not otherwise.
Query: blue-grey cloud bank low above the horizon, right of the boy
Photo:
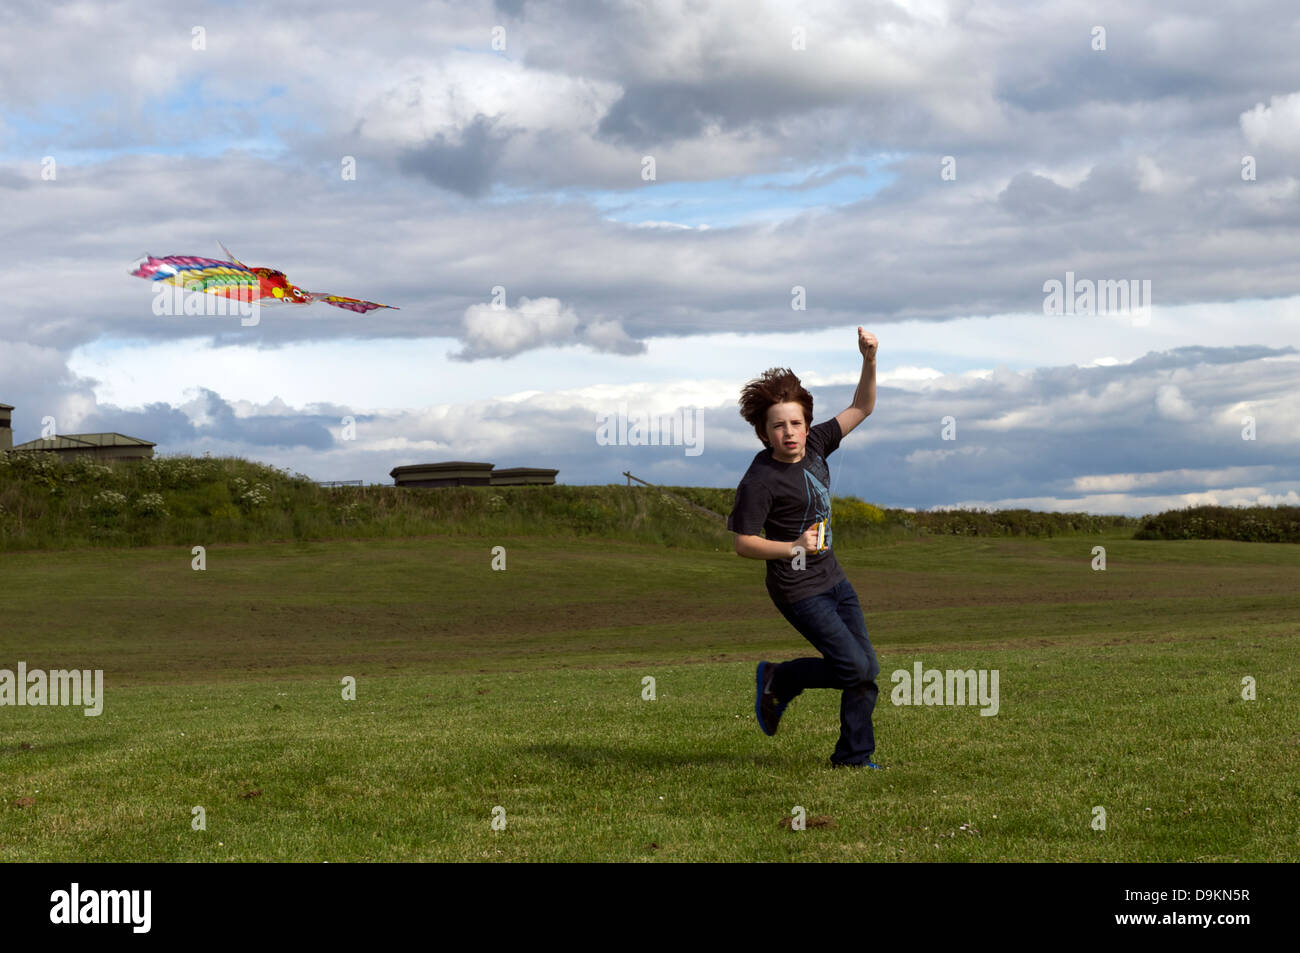
[[[870,447],[845,442],[836,491],[915,507],[1078,499],[1087,495],[1079,478],[1167,472],[1153,491],[1171,498],[1240,486],[1243,477],[1231,472],[1240,469],[1248,486],[1294,493],[1300,443],[1291,434],[1300,433],[1300,411],[1275,402],[1290,402],[1297,364],[1261,363],[1294,354],[1176,348],[1126,365],[994,374],[953,391],[881,386],[864,424]],[[1170,398],[1188,412],[1175,412]],[[1231,408],[1247,402],[1270,408],[1252,411],[1273,428],[1268,445],[1242,439],[1243,412]],[[949,415],[956,439],[944,441]],[[1002,423],[1008,416],[1014,421]],[[1217,477],[1221,471],[1228,472]],[[1112,511],[1141,508],[1121,502]]]

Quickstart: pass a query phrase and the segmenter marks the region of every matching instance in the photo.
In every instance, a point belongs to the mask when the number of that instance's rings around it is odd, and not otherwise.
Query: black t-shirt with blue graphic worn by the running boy
[[[758,536],[762,529],[768,540],[793,542],[818,520],[827,520],[827,550],[806,553],[805,568],[796,569],[790,556],[767,560],[767,592],[777,602],[798,602],[845,580],[831,549],[831,471],[826,464],[842,437],[840,421],[831,417],[809,430],[803,459],[797,463],[781,463],[771,449],[760,450],[736,488],[736,506],[727,517],[733,533]]]

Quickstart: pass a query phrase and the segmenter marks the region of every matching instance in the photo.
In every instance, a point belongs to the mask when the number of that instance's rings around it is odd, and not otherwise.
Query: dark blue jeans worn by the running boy
[[[858,594],[849,580],[844,580],[798,602],[776,602],[776,607],[823,658],[783,662],[772,676],[772,692],[785,702],[806,688],[841,689],[840,741],[831,761],[836,764],[871,761],[876,750],[871,712],[880,694],[876,686],[880,663],[867,638]]]

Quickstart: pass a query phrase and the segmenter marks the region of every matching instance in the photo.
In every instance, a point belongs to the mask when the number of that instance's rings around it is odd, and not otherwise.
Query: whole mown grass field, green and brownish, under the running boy
[[[754,663],[811,653],[729,550],[6,554],[0,668],[105,701],[0,707],[0,858],[1294,861],[1300,547],[1126,536],[840,551],[887,771],[827,766],[835,692],[758,731]],[[997,670],[998,714],[890,703],[916,660]]]

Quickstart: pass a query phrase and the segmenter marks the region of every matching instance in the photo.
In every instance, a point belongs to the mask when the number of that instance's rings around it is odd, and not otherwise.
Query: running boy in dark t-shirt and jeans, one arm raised
[[[781,615],[822,653],[774,664],[759,662],[754,712],[775,735],[785,706],[805,688],[838,688],[840,740],[835,767],[879,768],[871,712],[880,672],[858,595],[831,550],[831,471],[826,458],[876,404],[874,334],[858,328],[862,378],[853,404],[809,429],[812,395],[800,378],[772,368],[741,391],[740,412],[766,445],[736,489],[727,528],[736,553],[767,560],[767,592]],[[758,532],[767,530],[767,538]],[[819,550],[820,545],[820,550]]]

